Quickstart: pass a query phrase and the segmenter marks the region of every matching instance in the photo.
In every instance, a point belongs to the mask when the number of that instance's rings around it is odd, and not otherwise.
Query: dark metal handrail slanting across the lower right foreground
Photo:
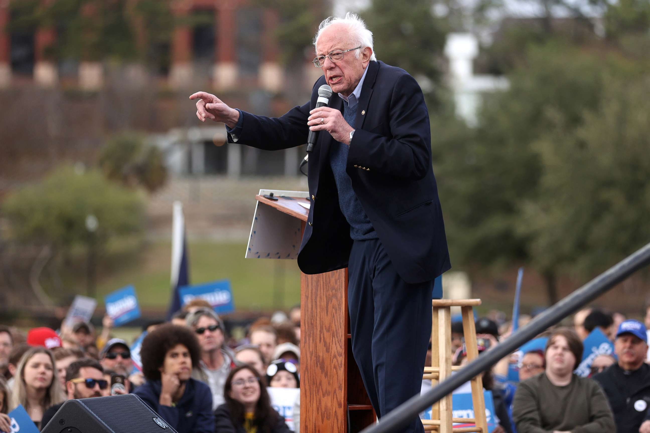
[[[636,251],[636,253],[621,260],[618,264],[610,267],[610,269],[598,277],[593,278],[593,280],[542,314],[539,314],[528,325],[520,328],[507,340],[504,340],[473,362],[467,364],[458,373],[443,380],[443,382],[426,394],[412,397],[382,417],[378,424],[365,428],[361,433],[391,433],[398,431],[399,428],[404,427],[404,425],[412,421],[413,417],[429,408],[432,404],[445,397],[445,395],[452,393],[452,391],[456,390],[456,388],[471,378],[480,375],[483,371],[486,371],[492,365],[499,362],[500,359],[513,353],[521,345],[526,343],[526,341],[532,340],[532,338],[535,338],[535,336],[547,328],[559,323],[567,315],[576,312],[648,264],[650,264],[650,243]]]

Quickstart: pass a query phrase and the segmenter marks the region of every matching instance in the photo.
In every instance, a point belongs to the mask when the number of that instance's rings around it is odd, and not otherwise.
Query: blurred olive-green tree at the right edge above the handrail
[[[610,81],[580,126],[558,125],[535,143],[539,195],[519,223],[533,262],[590,275],[650,242],[650,80]]]

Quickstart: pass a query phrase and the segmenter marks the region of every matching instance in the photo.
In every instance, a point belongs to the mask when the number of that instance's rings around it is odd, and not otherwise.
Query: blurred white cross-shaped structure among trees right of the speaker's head
[[[476,114],[481,94],[508,90],[510,83],[504,77],[474,75],[474,58],[478,56],[478,40],[471,33],[450,33],[445,44],[449,59],[448,82],[454,92],[456,115],[468,125],[476,125]]]

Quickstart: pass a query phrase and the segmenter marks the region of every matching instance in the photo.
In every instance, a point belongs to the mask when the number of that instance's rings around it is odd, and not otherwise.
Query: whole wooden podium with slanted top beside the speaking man
[[[308,193],[260,190],[255,199],[246,257],[297,258]],[[302,274],[300,288],[300,433],[359,432],[376,415],[352,356],[348,269]]]

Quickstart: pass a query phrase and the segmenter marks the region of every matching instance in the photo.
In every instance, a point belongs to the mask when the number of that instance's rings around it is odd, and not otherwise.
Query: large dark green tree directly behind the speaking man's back
[[[550,176],[553,164],[572,166],[562,158],[551,162],[552,152],[541,153],[539,143],[562,148],[563,137],[583,127],[586,113],[599,110],[612,82],[642,69],[619,56],[561,42],[530,47],[509,75],[510,89],[484,99],[476,129],[458,129],[442,143],[434,132],[435,172],[454,262],[482,267],[527,262],[545,277],[551,303],[557,301],[556,276],[567,255],[540,246],[547,221],[534,223],[530,217],[541,200],[541,179]],[[547,199],[553,197],[549,193]]]

